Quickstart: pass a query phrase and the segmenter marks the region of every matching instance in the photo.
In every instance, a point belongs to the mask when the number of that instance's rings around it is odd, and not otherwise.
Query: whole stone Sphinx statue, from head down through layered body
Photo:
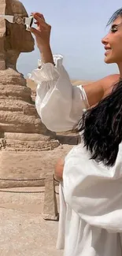
[[[20,1],[0,0],[0,15],[16,14],[28,17]],[[0,17],[0,135],[2,139],[21,139],[30,144],[31,140],[38,141],[37,147],[41,149],[42,141],[54,138],[54,132],[48,131],[41,122],[31,99],[31,89],[16,67],[20,53],[32,50],[34,39],[26,26],[11,24]],[[28,147],[28,143],[24,144]]]

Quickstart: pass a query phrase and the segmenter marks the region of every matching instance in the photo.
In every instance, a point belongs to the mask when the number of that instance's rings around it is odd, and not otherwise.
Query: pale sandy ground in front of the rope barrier
[[[42,193],[0,193],[0,255],[62,256],[56,249],[58,222],[44,221]],[[18,191],[28,191],[28,188]],[[40,191],[31,188],[31,191]]]

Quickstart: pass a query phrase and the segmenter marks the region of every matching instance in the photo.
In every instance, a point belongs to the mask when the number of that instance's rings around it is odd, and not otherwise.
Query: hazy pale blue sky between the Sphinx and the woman
[[[43,13],[52,26],[51,46],[54,54],[64,56],[64,65],[72,79],[96,80],[118,72],[116,65],[105,65],[101,39],[105,25],[121,0],[21,0],[30,14]],[[25,42],[26,43],[26,42]],[[39,50],[21,54],[18,70],[27,76],[35,69]]]

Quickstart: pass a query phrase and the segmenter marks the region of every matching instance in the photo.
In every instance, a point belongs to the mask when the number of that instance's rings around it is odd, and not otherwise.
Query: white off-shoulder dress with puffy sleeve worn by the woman
[[[39,116],[48,129],[61,132],[72,129],[88,102],[82,86],[72,87],[61,55],[54,62],[39,61],[41,69],[30,77],[38,83]],[[57,248],[65,256],[122,256],[122,143],[113,167],[90,158],[83,143],[65,158]]]

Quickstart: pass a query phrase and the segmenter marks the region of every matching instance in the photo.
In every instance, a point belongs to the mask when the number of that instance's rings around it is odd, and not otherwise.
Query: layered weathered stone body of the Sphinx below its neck
[[[54,134],[41,122],[24,77],[10,69],[0,71],[0,116],[0,132]]]

